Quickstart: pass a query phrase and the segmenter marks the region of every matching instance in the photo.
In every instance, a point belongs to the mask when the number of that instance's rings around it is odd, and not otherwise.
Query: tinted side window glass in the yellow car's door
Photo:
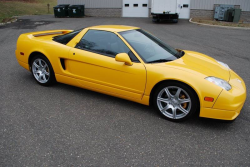
[[[89,30],[76,45],[76,48],[113,58],[119,53],[127,53],[131,61],[139,62],[124,42],[116,34],[108,31]]]

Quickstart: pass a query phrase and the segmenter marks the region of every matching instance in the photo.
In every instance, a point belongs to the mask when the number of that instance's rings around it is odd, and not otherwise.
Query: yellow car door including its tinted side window
[[[117,62],[127,53],[132,66]],[[88,30],[69,52],[67,70],[84,87],[123,97],[141,99],[146,85],[145,67],[113,32]]]

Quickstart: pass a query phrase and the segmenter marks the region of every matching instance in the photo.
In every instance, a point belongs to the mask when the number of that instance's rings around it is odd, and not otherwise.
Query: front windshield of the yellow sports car
[[[172,61],[183,55],[183,52],[175,50],[141,29],[120,34],[146,63]]]

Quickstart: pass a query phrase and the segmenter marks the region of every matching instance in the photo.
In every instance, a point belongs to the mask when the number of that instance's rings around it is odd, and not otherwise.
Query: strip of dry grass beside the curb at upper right
[[[233,22],[216,21],[216,20],[204,19],[204,18],[192,18],[192,21],[196,23],[229,26],[229,27],[250,27],[250,23],[243,23],[243,21],[240,21],[239,23],[233,23]]]

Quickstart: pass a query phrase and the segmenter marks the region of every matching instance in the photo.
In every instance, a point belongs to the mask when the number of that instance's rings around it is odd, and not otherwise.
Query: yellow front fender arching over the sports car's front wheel
[[[189,70],[174,68],[171,66],[153,66],[146,64],[147,84],[145,95],[150,96],[151,91],[159,82],[175,80],[189,85],[197,93],[200,100],[200,107],[212,108],[222,88],[207,81],[204,74]],[[204,101],[205,97],[214,98],[213,102]]]

